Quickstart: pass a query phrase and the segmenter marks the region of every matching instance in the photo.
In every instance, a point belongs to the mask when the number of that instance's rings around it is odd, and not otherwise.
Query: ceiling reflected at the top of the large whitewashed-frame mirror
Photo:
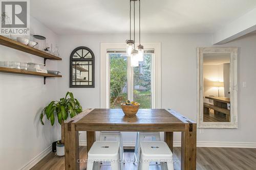
[[[203,57],[204,57],[203,65],[219,65],[219,64],[224,64],[224,63],[230,63],[230,54],[229,53],[204,54]]]

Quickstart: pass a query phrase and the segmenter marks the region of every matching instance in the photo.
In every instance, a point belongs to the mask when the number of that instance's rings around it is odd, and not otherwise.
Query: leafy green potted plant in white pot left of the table
[[[51,125],[54,125],[55,115],[58,118],[58,123],[61,125],[61,140],[56,143],[56,154],[58,156],[65,155],[64,150],[64,120],[82,112],[82,107],[77,99],[74,99],[72,92],[67,92],[65,98],[59,99],[59,101],[52,101],[48,106],[42,109],[40,114],[41,124],[44,124],[44,116],[51,122]]]

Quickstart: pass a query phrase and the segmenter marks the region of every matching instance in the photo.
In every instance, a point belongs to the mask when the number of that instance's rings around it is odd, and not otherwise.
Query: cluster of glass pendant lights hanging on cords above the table
[[[131,3],[134,2],[134,40],[131,40]],[[135,48],[135,1],[139,1],[139,45]],[[130,40],[126,40],[126,54],[131,57],[131,66],[139,66],[143,61],[143,45],[140,44],[140,0],[130,0]]]

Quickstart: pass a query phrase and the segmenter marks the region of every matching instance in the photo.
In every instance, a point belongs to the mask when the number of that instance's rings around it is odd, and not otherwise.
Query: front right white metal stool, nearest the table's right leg
[[[143,141],[140,146],[139,170],[148,170],[150,162],[156,161],[161,162],[161,170],[174,170],[173,153],[165,142]]]

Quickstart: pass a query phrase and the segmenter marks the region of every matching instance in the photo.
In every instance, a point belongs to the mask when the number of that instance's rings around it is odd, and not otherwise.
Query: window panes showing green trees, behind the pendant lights
[[[146,51],[145,51],[146,52]],[[151,51],[154,53],[154,51]],[[139,62],[139,67],[127,65],[125,51],[108,50],[110,59],[110,108],[120,108],[120,104],[127,99],[140,103],[140,108],[152,108],[151,92],[151,64],[153,54],[144,54],[144,61]],[[132,70],[127,72],[127,70]],[[133,82],[127,83],[127,75],[133,77]],[[133,86],[132,88],[127,88]],[[127,93],[132,96],[127,96]]]

